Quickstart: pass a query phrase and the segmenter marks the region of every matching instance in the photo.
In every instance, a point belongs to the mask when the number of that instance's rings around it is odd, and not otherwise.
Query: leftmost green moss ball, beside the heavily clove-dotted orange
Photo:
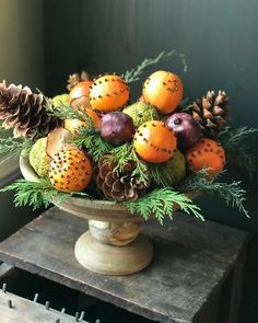
[[[50,164],[50,157],[46,152],[47,138],[38,139],[30,152],[30,163],[34,171],[40,177],[46,177],[48,175],[48,169]]]

